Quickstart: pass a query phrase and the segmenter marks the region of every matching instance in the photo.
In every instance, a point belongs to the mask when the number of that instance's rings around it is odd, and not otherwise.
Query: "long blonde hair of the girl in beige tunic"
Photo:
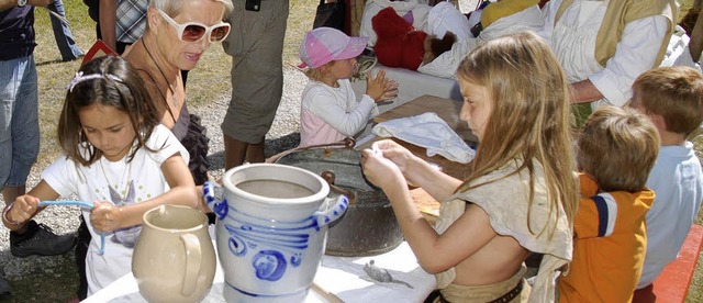
[[[536,161],[544,168],[550,212],[557,212],[561,203],[572,225],[578,187],[568,122],[569,90],[549,47],[529,32],[500,37],[476,48],[461,61],[457,76],[459,82],[486,87],[493,102],[471,172],[458,191],[484,186],[473,180],[522,160],[512,173],[527,170],[531,210]],[[529,216],[528,212],[528,222]]]

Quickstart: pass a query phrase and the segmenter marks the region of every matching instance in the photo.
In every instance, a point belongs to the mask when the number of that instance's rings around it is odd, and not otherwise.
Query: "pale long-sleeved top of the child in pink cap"
[[[364,130],[379,114],[376,102],[364,94],[356,100],[349,79],[338,88],[311,80],[303,89],[300,110],[300,146],[341,142]]]

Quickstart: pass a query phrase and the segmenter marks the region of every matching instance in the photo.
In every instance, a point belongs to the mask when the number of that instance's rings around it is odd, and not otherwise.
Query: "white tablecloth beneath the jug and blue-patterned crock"
[[[376,266],[388,269],[393,279],[405,281],[413,285],[413,289],[399,283],[378,283],[369,280],[364,272],[364,265],[371,259],[375,260]],[[324,256],[314,282],[345,302],[377,302],[379,300],[422,302],[435,287],[434,276],[420,268],[417,259],[405,242],[398,248],[378,256]],[[223,283],[224,273],[217,259],[212,289],[202,302],[224,302]],[[82,302],[146,302],[146,300],[140,294],[134,276],[127,273]],[[325,300],[311,290],[305,302],[325,302]]]

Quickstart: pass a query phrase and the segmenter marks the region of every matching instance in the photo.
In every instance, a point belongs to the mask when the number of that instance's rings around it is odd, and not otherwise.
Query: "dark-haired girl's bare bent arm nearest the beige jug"
[[[90,212],[90,220],[96,229],[111,232],[116,228],[142,224],[144,213],[161,204],[197,207],[199,200],[196,183],[180,154],[166,159],[161,164],[161,171],[170,189],[158,197],[124,206],[114,206],[111,203],[96,203],[96,206]]]

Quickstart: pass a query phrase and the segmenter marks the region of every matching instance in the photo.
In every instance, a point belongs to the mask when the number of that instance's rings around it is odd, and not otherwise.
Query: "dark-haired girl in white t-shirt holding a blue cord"
[[[68,86],[58,122],[64,152],[42,180],[2,214],[18,229],[43,207],[40,201],[77,195],[92,235],[86,259],[88,294],[130,272],[142,216],[159,204],[196,206],[188,152],[165,126],[141,76],[120,57],[82,66]],[[107,234],[100,254],[101,233]]]

